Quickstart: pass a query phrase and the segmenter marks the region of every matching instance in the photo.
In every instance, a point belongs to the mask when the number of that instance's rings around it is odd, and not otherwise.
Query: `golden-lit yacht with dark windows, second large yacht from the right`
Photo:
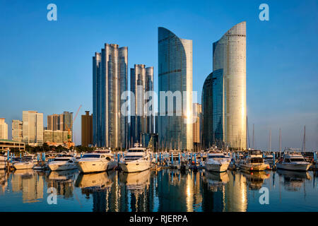
[[[260,150],[249,151],[246,157],[243,157],[238,161],[238,165],[241,169],[251,171],[264,171],[265,169],[269,169],[269,164],[264,162]]]

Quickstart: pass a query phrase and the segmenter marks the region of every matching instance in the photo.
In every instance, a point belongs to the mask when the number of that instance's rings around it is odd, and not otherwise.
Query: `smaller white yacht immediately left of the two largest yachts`
[[[77,169],[76,159],[73,155],[58,155],[47,166],[51,171]]]

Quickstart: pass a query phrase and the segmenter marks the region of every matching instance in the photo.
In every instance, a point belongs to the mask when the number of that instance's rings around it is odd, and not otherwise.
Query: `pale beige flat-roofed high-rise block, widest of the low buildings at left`
[[[43,113],[23,111],[23,142],[28,144],[43,143]]]

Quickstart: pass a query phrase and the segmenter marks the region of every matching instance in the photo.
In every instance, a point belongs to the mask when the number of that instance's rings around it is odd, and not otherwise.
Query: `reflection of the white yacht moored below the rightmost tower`
[[[204,174],[204,182],[208,183],[211,191],[221,191],[223,186],[229,182],[228,172],[208,172]]]

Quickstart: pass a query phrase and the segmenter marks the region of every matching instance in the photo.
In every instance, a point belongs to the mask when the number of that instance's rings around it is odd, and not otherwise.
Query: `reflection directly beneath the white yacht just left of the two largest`
[[[52,171],[47,176],[47,188],[57,189],[57,195],[63,198],[73,198],[73,182],[78,176],[78,170]]]

